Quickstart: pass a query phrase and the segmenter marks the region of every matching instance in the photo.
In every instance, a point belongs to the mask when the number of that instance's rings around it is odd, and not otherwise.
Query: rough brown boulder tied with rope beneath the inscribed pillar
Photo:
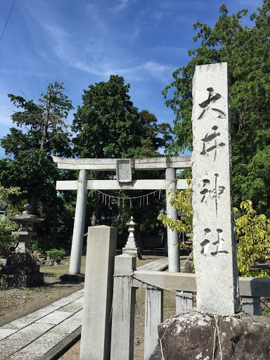
[[[242,313],[239,319],[220,317],[218,326],[215,332],[214,316],[197,311],[170,317],[158,326],[164,359],[270,359],[269,318]]]

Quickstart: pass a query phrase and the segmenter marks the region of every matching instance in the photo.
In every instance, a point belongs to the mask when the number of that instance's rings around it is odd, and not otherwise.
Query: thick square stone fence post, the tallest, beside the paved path
[[[117,229],[88,229],[80,360],[110,359],[110,311]]]

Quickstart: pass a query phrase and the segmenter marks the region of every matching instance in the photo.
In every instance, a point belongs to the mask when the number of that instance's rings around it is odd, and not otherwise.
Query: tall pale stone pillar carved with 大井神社
[[[239,307],[231,202],[228,65],[200,65],[193,77],[193,253],[197,307],[234,314]]]

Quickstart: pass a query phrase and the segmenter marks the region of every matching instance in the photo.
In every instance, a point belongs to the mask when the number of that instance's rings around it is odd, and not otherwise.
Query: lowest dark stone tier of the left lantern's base
[[[33,288],[44,284],[44,274],[0,274],[1,288]]]

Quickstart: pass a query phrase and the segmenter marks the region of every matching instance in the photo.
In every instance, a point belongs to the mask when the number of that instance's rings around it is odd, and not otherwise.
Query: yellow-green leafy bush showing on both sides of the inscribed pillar
[[[172,230],[176,229],[179,232],[192,233],[191,179],[188,179],[187,182],[188,188],[184,191],[175,190],[174,197],[170,200],[170,204],[179,213],[186,214],[186,217],[175,220],[167,218],[165,214],[160,214],[158,219]],[[250,200],[243,201],[240,203],[240,210],[234,207],[233,211],[236,218],[236,250],[239,276],[269,278],[268,271],[253,268],[256,268],[258,259],[264,261],[270,259],[270,219],[267,219],[264,214],[258,215],[252,208]],[[182,243],[181,248],[185,248],[185,245]]]

